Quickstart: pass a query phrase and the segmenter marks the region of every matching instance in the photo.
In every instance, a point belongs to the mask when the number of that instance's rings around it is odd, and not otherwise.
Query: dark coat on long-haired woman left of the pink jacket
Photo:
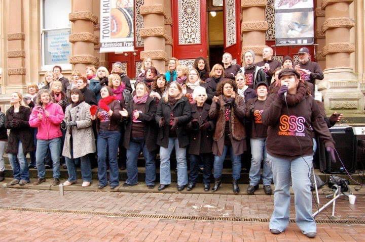
[[[6,153],[18,154],[19,140],[22,142],[24,154],[34,150],[33,134],[28,122],[30,113],[30,108],[23,106],[19,107],[18,113],[14,113],[14,106],[7,110],[5,127],[10,129],[10,134]]]

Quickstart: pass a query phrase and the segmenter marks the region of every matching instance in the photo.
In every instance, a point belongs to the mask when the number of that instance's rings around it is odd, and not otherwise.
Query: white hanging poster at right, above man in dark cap
[[[276,45],[313,44],[313,0],[275,0]]]

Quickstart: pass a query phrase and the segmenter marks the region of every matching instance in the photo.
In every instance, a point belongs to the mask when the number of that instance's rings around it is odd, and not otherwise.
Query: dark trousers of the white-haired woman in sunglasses
[[[189,182],[196,184],[199,176],[200,160],[203,161],[203,183],[210,183],[211,167],[213,161],[213,155],[211,153],[205,153],[200,155],[189,155],[190,160],[190,173]]]

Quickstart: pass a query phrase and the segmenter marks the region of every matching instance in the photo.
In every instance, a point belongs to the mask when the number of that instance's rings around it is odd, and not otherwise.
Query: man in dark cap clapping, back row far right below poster
[[[312,96],[314,96],[315,80],[323,80],[323,72],[318,63],[310,61],[309,50],[302,47],[298,52],[299,63],[294,64],[294,68],[300,73],[303,81],[308,81],[313,84]]]

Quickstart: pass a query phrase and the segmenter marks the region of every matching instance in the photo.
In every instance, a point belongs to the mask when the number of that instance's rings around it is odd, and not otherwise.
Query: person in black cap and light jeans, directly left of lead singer
[[[249,185],[247,194],[253,195],[259,189],[261,161],[263,165],[263,184],[265,194],[271,195],[272,171],[266,154],[267,126],[263,125],[261,115],[264,111],[265,102],[268,95],[268,85],[260,82],[256,86],[257,98],[250,99],[246,103],[246,117],[251,120],[250,143],[251,143],[251,168],[249,171]]]

